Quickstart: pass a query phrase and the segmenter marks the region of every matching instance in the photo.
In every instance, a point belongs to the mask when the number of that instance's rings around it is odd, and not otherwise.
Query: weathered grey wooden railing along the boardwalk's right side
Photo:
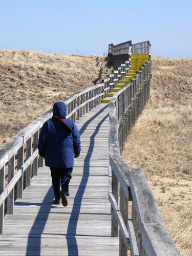
[[[119,236],[119,255],[180,255],[158,210],[141,168],[121,157],[125,137],[142,112],[150,93],[151,62],[110,101],[109,200],[112,237]]]

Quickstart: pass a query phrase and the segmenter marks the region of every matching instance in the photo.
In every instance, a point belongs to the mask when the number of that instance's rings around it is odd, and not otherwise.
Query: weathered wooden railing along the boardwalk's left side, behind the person
[[[100,104],[108,92],[111,92],[109,78],[73,94],[64,101],[67,118],[75,122]],[[31,178],[37,175],[38,167],[43,164],[38,155],[38,136],[42,125],[51,116],[52,110],[49,110],[0,149],[0,233],[3,233],[5,214],[14,213],[15,199],[22,198],[23,190],[31,185]]]

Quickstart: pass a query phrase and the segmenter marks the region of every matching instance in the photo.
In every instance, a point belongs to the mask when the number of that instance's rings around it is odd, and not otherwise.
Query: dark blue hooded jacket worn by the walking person
[[[53,105],[54,116],[66,116],[67,107],[63,102]],[[51,118],[44,123],[38,140],[39,155],[45,157],[45,164],[49,167],[70,168],[74,165],[74,154],[80,154],[80,136],[75,123],[69,119],[62,119],[71,131],[57,119]]]

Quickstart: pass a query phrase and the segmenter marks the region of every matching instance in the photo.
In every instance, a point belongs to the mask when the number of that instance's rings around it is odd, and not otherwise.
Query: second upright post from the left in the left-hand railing
[[[15,174],[15,155],[8,161],[8,184]],[[7,197],[7,214],[13,214],[14,212],[14,187]]]

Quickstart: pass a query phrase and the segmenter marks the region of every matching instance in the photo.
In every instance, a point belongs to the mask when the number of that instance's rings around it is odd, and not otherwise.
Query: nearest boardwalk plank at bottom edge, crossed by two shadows
[[[0,245],[0,255],[114,255],[117,256],[118,240],[116,238],[99,237],[41,237],[41,250],[39,253],[39,238],[30,238],[31,246],[27,248],[28,238],[6,238]],[[9,245],[12,246],[9,246]],[[55,246],[56,245],[56,246]],[[26,253],[27,252],[27,253]]]

